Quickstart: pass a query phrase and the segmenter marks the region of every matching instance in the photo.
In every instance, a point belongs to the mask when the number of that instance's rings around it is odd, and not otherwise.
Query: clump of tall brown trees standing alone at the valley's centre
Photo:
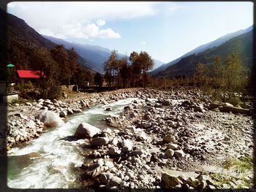
[[[153,59],[145,51],[140,53],[133,51],[129,58],[127,56],[118,58],[118,52],[113,50],[108,61],[104,63],[104,78],[108,85],[114,88],[145,88],[150,78],[147,72],[153,69],[153,66]],[[97,80],[101,78],[100,74],[97,74],[94,82],[98,82]]]

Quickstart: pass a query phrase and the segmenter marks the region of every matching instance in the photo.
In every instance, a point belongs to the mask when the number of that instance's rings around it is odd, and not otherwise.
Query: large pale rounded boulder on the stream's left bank
[[[63,126],[65,123],[55,112],[44,111],[37,115],[39,119],[47,127]]]

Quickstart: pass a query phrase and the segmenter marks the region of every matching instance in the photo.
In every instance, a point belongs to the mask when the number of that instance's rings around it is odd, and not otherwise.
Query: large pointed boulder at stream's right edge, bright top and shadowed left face
[[[75,131],[75,137],[77,137],[78,139],[91,138],[99,132],[99,128],[91,126],[88,123],[81,123]]]

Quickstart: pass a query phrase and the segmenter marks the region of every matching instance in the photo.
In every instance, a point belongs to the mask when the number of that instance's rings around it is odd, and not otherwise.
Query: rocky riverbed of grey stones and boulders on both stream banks
[[[140,100],[118,117],[104,118],[111,129],[92,127],[94,134],[84,136],[79,129],[88,128],[82,123],[75,134],[92,149],[84,153],[90,161],[80,167],[82,188],[252,187],[252,169],[244,168],[252,164],[252,104],[215,103],[210,95],[190,89],[124,89],[15,104],[7,113],[7,150],[56,126],[39,118],[42,112],[64,119],[91,105],[126,98]]]

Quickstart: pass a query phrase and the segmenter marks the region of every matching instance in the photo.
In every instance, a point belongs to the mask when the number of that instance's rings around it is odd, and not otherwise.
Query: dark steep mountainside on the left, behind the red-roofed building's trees
[[[29,55],[34,48],[46,47],[49,50],[56,46],[54,42],[45,39],[45,37],[37,33],[24,20],[3,10],[0,12],[0,28],[7,27],[7,55],[9,61],[16,66],[16,69],[26,69],[29,67]],[[80,55],[78,63],[85,69],[94,72]]]

